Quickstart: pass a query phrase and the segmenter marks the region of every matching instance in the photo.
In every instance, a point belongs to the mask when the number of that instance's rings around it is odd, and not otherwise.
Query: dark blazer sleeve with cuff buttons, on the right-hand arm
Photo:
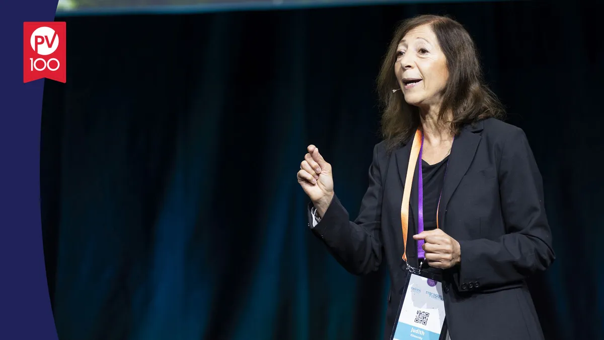
[[[461,263],[454,281],[462,291],[521,281],[547,269],[555,258],[541,174],[521,129],[504,142],[498,169],[506,235],[496,241],[459,241]]]

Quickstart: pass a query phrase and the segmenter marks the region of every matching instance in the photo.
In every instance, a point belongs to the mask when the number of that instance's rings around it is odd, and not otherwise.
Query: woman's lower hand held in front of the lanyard
[[[414,240],[424,240],[423,250],[428,265],[434,268],[448,269],[461,261],[459,242],[445,234],[441,229],[434,229],[413,235]]]

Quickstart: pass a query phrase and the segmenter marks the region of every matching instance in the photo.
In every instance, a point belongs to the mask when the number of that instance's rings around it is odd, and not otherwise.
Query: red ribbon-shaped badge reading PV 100
[[[66,81],[65,22],[23,23],[23,82]]]

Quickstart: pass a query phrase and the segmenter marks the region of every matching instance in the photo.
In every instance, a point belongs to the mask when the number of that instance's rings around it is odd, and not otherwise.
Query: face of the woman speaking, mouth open
[[[418,26],[401,39],[394,73],[405,102],[423,108],[440,106],[449,71],[430,25]]]

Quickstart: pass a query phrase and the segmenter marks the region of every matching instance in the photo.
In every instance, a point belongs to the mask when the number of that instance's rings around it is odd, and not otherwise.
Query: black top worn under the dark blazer
[[[443,183],[445,183],[445,172],[447,168],[447,161],[449,156],[445,157],[439,163],[429,165],[425,160],[422,160],[422,177],[423,177],[423,230],[434,230],[436,229],[436,209],[439,205],[440,192],[443,189]],[[418,212],[418,196],[417,196],[417,183],[419,180],[419,173],[415,171],[413,186],[411,187],[411,197],[409,202],[411,204],[411,211],[413,212],[414,229],[409,231],[411,236],[417,234],[419,228],[419,212]],[[440,226],[441,228],[443,226]],[[445,229],[443,229],[444,231]],[[413,234],[412,234],[413,233]],[[409,244],[408,244],[409,247]],[[413,240],[413,246],[409,247],[413,249],[417,254],[417,241]],[[412,264],[417,267],[419,263]],[[428,264],[424,264],[423,267],[427,267]],[[432,271],[432,270],[431,270]],[[440,272],[440,270],[434,270],[434,272]]]

